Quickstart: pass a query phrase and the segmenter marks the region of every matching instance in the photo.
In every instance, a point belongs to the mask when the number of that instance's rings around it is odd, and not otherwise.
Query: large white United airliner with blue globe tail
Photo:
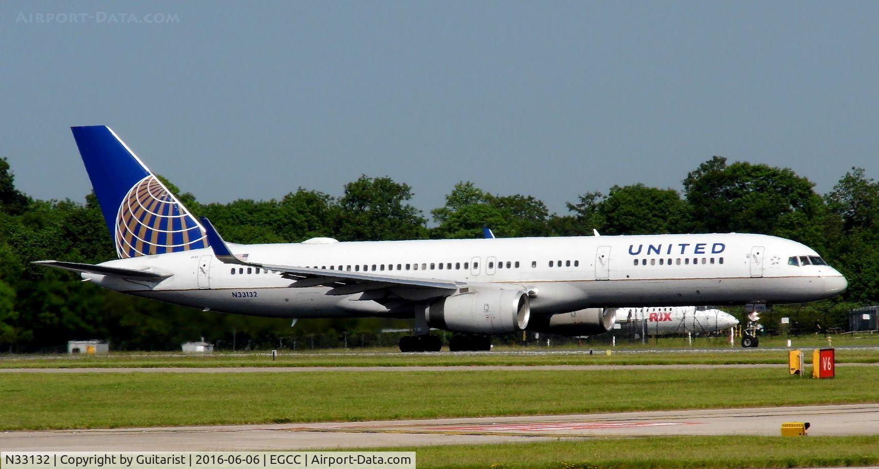
[[[38,263],[224,313],[414,318],[403,351],[439,350],[430,328],[465,334],[452,350],[486,350],[489,335],[522,329],[607,331],[614,307],[800,303],[847,285],[813,249],[767,235],[226,243],[109,127],[73,127],[73,135],[119,259]]]

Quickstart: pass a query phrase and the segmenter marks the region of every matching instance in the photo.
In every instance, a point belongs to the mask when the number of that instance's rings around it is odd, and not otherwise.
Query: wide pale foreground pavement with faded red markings
[[[779,435],[810,422],[813,436],[875,435],[879,404],[536,415],[385,422],[9,431],[0,451],[243,451],[487,444],[550,438]]]

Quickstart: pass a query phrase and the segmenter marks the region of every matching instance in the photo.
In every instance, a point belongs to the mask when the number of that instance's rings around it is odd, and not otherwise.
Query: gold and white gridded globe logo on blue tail
[[[128,191],[116,216],[120,258],[207,248],[200,224],[153,175]]]

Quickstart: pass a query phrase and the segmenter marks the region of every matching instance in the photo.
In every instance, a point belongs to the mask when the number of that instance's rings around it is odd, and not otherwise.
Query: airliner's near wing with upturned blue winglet
[[[331,295],[392,289],[403,298],[427,299],[448,296],[456,292],[460,286],[463,286],[463,284],[458,284],[451,280],[435,278],[399,277],[370,272],[330,271],[274,263],[247,262],[232,253],[229,246],[222,240],[222,237],[214,228],[214,225],[211,224],[210,220],[207,220],[207,217],[202,217],[201,222],[207,231],[207,240],[210,242],[211,249],[214,249],[214,256],[223,263],[237,263],[269,271],[282,272],[284,277],[295,280],[295,283],[292,285],[293,287],[331,286],[332,288],[328,292]],[[411,292],[404,294],[406,290],[411,289],[422,290],[422,292],[414,295]]]

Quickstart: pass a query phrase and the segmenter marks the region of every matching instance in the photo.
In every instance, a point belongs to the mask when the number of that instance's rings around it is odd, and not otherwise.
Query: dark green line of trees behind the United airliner
[[[164,180],[163,180],[164,181]],[[803,323],[845,327],[852,307],[879,299],[879,183],[853,168],[818,194],[793,170],[715,156],[690,171],[683,191],[644,184],[585,191],[550,213],[538,198],[500,195],[461,182],[444,206],[425,213],[410,205],[410,185],[362,176],[341,197],[299,188],[282,198],[200,203],[164,181],[196,216],[207,216],[229,242],[301,242],[498,237],[761,233],[816,249],[849,281],[835,299],[785,307]],[[405,321],[289,320],[201,312],[83,285],[72,274],[33,266],[58,259],[100,263],[115,258],[97,198],[40,200],[15,187],[0,159],[0,350],[53,350],[70,339],[102,338],[114,350],[172,350],[204,336],[221,348],[277,346],[315,333],[374,333]]]

